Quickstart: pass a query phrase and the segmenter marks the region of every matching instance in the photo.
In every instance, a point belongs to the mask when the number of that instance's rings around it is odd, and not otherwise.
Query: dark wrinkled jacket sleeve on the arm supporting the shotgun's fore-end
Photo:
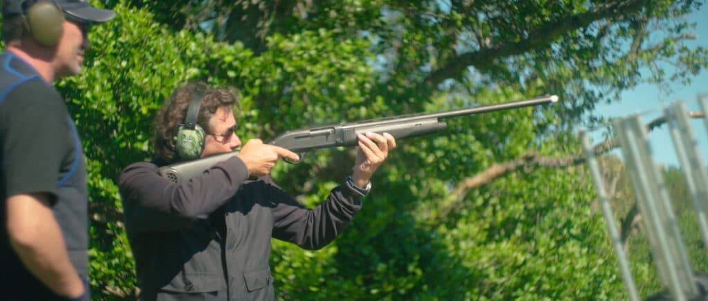
[[[311,250],[323,248],[347,227],[364,196],[345,183],[334,188],[323,203],[307,209],[272,183],[268,190],[275,202],[273,237]]]

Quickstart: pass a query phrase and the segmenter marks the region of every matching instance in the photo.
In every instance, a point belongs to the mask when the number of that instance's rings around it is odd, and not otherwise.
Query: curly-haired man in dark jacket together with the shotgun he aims
[[[177,89],[156,118],[154,161],[131,164],[119,181],[142,300],[274,300],[270,239],[302,249],[332,242],[360,210],[396,139],[442,130],[438,118],[556,100],[295,130],[233,152],[241,146],[236,96],[200,84]],[[352,174],[315,208],[304,208],[269,176],[278,159],[299,161],[296,152],[354,145]]]

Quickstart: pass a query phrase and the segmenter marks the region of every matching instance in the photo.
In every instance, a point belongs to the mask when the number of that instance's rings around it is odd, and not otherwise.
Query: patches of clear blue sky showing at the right
[[[708,47],[708,4],[704,4],[700,11],[695,11],[687,16],[687,21],[696,23],[696,28],[692,32],[697,35],[697,39],[687,41],[686,45],[688,47]],[[691,84],[671,84],[670,90],[668,92],[661,91],[658,86],[641,84],[635,89],[624,91],[621,101],[598,106],[595,113],[605,117],[624,117],[634,113],[650,111],[650,113],[642,114],[642,118],[648,123],[653,118],[661,115],[660,110],[664,106],[674,101],[685,101],[690,110],[699,110],[696,96],[698,93],[708,93],[708,71],[704,70],[698,74],[692,79]],[[701,153],[705,161],[708,158],[707,124],[704,123],[704,120],[692,120],[692,126],[697,134]],[[593,140],[597,142],[600,139],[600,135],[598,135],[598,132],[594,134]],[[651,132],[649,140],[654,159],[658,163],[678,165],[678,159],[666,125]]]

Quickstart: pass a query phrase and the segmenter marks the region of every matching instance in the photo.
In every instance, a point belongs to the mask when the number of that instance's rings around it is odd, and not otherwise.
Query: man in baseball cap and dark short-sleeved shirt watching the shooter
[[[52,82],[78,74],[91,25],[83,0],[3,0],[0,55],[0,298],[89,300],[86,166]]]

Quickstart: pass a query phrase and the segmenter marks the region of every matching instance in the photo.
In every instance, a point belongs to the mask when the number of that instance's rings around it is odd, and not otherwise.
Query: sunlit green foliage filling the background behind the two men
[[[633,86],[642,79],[638,68],[658,58],[683,57],[692,72],[702,69],[703,50],[672,41],[634,58],[619,47],[632,41],[639,21],[669,28],[668,18],[697,3],[652,1],[639,13],[610,14],[527,51],[470,63],[458,55],[494,46],[485,45],[490,41],[511,45],[537,37],[532,33],[549,21],[580,16],[602,1],[452,1],[450,7],[445,1],[292,1],[282,9],[270,1],[246,2],[256,11],[222,1],[103,1],[118,18],[91,33],[94,51],[81,76],[57,84],[88,158],[97,300],[135,299],[135,264],[115,180],[128,164],[149,159],[152,118],[188,80],[240,89],[242,140],[564,93],[561,114],[525,108],[459,118],[443,135],[400,141],[361,212],[335,242],[320,251],[274,242],[277,293],[295,300],[625,297],[584,169],[521,170],[466,195],[453,192],[465,178],[531,149],[555,157],[579,153],[576,137],[561,129],[607,99],[590,84],[612,91]],[[254,28],[265,28],[264,34],[254,42],[229,31],[219,10],[202,12],[204,18],[195,13],[214,4],[224,6],[229,22],[256,18]],[[430,80],[457,62],[460,71]],[[273,176],[314,206],[350,173],[353,154],[314,152],[302,164],[276,166]],[[641,279],[649,278],[646,268],[639,266],[647,275]]]

